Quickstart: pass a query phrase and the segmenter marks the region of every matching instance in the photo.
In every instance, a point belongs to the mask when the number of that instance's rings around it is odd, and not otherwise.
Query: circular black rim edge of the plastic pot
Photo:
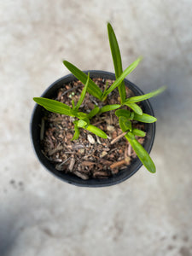
[[[83,71],[84,73],[90,73],[90,78],[101,78],[103,77],[103,79],[107,79],[106,77],[109,76],[108,79],[115,79],[115,74],[114,73],[110,73],[110,72],[106,72],[106,71],[102,71],[102,70],[86,70]],[[69,83],[69,81],[73,81],[73,80],[78,80],[74,77],[74,75],[72,73],[67,74],[66,76],[61,77],[60,79],[55,80],[55,82],[53,82],[52,84],[49,85],[49,87],[44,90],[44,93],[41,96],[46,96],[47,94],[49,94],[50,90],[53,90],[54,87],[61,87],[62,84],[67,84]],[[143,91],[137,87],[136,84],[131,83],[128,79],[124,79],[125,80],[125,85],[126,86],[131,86],[131,90],[133,90],[134,93],[136,93],[137,95],[143,94]],[[66,82],[65,82],[66,81]],[[59,84],[59,85],[58,85]],[[129,85],[128,85],[129,84]],[[55,90],[58,90],[55,89]],[[150,104],[150,102],[148,100],[145,100],[143,102],[143,105],[147,105],[148,111],[151,115],[154,115],[154,110]],[[31,137],[31,142],[32,142],[32,148],[35,151],[35,154],[38,156],[38,160],[40,161],[40,163],[49,171],[51,172],[55,177],[60,178],[62,181],[65,181],[67,183],[71,183],[73,185],[76,186],[81,186],[81,187],[92,187],[92,188],[96,188],[96,187],[106,187],[106,186],[112,186],[118,183],[121,183],[123,181],[125,181],[126,179],[128,179],[129,177],[131,177],[133,174],[135,174],[141,166],[143,166],[142,162],[136,158],[136,162],[137,165],[134,168],[134,170],[132,172],[130,172],[128,169],[131,169],[131,166],[133,165],[129,165],[127,166],[127,168],[125,169],[124,173],[127,172],[127,175],[122,175],[122,177],[120,178],[120,175],[114,175],[113,177],[108,177],[106,179],[99,179],[99,178],[90,178],[88,180],[83,180],[80,177],[73,177],[73,175],[69,175],[65,172],[61,172],[61,171],[57,171],[55,168],[53,168],[53,165],[47,163],[47,159],[45,158],[44,154],[41,152],[40,147],[39,147],[39,143],[37,143],[37,141],[35,141],[35,137],[37,139],[38,135],[37,135],[37,131],[36,133],[34,133],[34,128],[35,128],[35,124],[34,124],[34,120],[37,119],[37,114],[40,113],[40,109],[42,109],[41,106],[39,106],[37,103],[35,104],[33,111],[32,111],[32,117],[30,120],[30,137]],[[146,112],[145,112],[146,113]],[[146,140],[149,142],[148,144],[148,148],[146,148],[146,150],[148,151],[148,154],[150,153],[153,144],[154,144],[154,136],[155,136],[155,123],[151,123],[151,124],[147,124],[147,126],[150,126],[150,133],[151,133],[151,137],[150,140],[147,137]],[[36,129],[37,130],[37,129]],[[147,134],[148,136],[148,134]],[[134,161],[135,163],[135,161]],[[55,169],[55,170],[54,170]],[[71,178],[70,178],[71,177]],[[73,177],[73,178],[72,178]],[[117,178],[118,177],[118,178]]]

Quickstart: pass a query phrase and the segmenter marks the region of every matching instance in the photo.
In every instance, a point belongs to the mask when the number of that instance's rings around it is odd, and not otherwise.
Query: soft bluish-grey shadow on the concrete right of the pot
[[[181,122],[189,119],[192,72],[187,67],[180,67],[178,62],[170,67],[169,61],[165,60],[165,67],[161,72],[152,68],[153,73],[151,73],[151,69],[145,67],[138,71],[136,77],[133,77],[134,80],[137,78],[136,84],[144,93],[166,85],[166,90],[162,94],[149,99],[154,108],[154,114],[159,120],[157,126],[164,128],[164,131],[165,127],[171,130],[178,119]],[[134,83],[134,80],[131,81]]]

